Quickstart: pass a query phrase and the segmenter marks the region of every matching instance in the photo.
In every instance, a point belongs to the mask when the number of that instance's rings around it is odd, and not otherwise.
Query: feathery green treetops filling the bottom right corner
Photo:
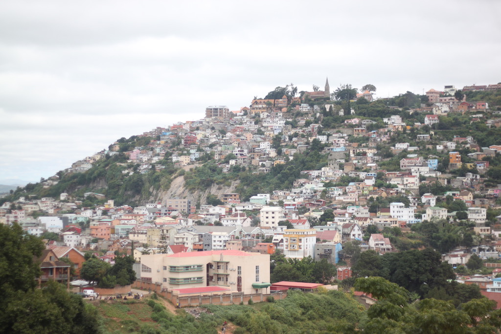
[[[409,291],[381,277],[358,278],[355,288],[378,301],[361,324],[368,333],[499,333],[501,310],[495,301],[472,299],[456,308],[451,302],[423,299],[409,303]]]

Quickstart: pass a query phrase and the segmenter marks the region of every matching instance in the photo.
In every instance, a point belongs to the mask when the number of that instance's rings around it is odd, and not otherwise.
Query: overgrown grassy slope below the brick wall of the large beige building
[[[294,293],[293,293],[294,292]],[[166,308],[162,299],[96,301],[107,333],[217,333],[228,321],[232,333],[349,332],[364,317],[349,294],[302,293],[254,305],[207,305],[197,318],[188,309]],[[205,308],[204,308],[205,309]]]

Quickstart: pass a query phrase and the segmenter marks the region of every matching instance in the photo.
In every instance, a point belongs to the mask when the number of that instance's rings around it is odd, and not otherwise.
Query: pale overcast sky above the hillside
[[[36,182],[290,83],[495,84],[499,17],[497,0],[2,2],[0,179]]]

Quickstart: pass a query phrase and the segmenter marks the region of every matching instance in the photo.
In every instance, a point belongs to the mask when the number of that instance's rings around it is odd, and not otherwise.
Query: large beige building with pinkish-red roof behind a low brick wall
[[[142,255],[141,279],[167,289],[217,285],[243,293],[269,293],[270,255],[240,250]]]

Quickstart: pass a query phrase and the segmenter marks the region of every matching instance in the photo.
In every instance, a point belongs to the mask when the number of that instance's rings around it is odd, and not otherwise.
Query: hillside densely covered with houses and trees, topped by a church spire
[[[0,222],[74,254],[73,278],[85,253],[127,254],[138,279],[165,289],[270,292],[353,284],[370,256],[382,262],[369,274],[385,276],[385,259],[430,247],[457,282],[501,300],[497,271],[477,265],[501,262],[501,84],[386,99],[372,85],[323,89],[277,87],[120,138],[1,195]],[[309,260],[314,274],[294,276]]]

